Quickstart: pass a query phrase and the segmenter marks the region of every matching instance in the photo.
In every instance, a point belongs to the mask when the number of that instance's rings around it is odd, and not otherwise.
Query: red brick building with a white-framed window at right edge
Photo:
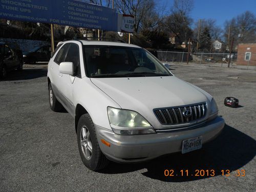
[[[239,44],[237,65],[256,66],[256,44]]]

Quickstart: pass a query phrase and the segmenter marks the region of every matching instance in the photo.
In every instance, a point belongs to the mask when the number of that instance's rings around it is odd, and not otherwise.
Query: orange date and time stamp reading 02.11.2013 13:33
[[[175,171],[174,169],[165,169],[164,176],[165,177],[214,177],[217,175],[222,176],[236,176],[236,177],[244,177],[245,176],[245,169],[237,169],[232,172],[229,169],[222,169],[220,172],[216,171],[215,169],[195,169],[194,171],[190,171],[188,169],[181,169],[179,171]]]

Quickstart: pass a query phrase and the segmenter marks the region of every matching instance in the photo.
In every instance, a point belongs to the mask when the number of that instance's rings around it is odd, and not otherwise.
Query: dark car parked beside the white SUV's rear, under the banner
[[[23,52],[25,63],[35,64],[38,61],[48,62],[51,58],[51,46],[40,46]]]

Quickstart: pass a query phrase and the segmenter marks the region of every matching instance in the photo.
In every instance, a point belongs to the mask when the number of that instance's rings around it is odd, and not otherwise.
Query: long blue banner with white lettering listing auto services
[[[0,18],[106,31],[120,28],[114,9],[73,0],[0,0]]]

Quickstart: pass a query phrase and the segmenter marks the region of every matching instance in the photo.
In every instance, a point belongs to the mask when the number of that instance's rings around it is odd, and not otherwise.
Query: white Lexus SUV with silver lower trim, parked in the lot
[[[82,162],[92,170],[198,150],[225,124],[212,96],[135,45],[61,42],[47,76],[50,107],[74,117]]]

